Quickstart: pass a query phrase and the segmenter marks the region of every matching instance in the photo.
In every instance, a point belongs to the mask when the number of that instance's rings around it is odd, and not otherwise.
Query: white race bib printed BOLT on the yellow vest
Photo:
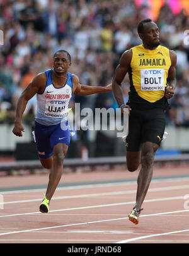
[[[141,90],[164,90],[164,69],[140,70]]]

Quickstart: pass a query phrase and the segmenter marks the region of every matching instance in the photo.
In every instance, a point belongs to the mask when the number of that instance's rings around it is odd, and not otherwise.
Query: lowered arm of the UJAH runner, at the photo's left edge
[[[37,92],[42,92],[43,88],[46,84],[46,76],[45,73],[40,73],[33,81],[26,87],[26,89],[22,92],[20,98],[18,99],[18,103],[16,106],[16,118],[14,121],[13,133],[16,136],[23,136],[22,131],[25,131],[24,127],[21,125],[21,118],[26,109],[26,104],[28,101],[35,95]]]

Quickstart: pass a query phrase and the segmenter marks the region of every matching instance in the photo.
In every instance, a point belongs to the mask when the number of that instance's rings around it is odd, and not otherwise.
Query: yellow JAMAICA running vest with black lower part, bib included
[[[142,44],[131,49],[130,92],[127,104],[135,109],[167,109],[168,101],[164,93],[171,66],[169,49],[159,45],[156,49],[149,50]]]

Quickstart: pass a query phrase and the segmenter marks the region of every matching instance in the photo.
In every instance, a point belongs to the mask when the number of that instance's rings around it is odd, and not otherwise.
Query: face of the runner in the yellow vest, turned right
[[[159,46],[159,28],[154,22],[144,23],[143,32],[140,35],[143,44],[149,47]]]

